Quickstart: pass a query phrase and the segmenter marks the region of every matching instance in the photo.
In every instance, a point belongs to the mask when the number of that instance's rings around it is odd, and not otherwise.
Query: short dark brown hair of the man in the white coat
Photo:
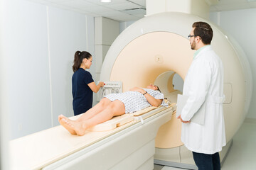
[[[194,29],[194,35],[199,36],[205,45],[210,45],[213,39],[213,30],[208,23],[196,22],[193,23],[192,28]]]

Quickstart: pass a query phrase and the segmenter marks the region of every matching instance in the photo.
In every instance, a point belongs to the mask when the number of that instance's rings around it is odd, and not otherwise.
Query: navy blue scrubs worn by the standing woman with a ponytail
[[[92,74],[79,68],[72,77],[74,115],[85,113],[92,108],[92,90],[87,84],[93,82]]]

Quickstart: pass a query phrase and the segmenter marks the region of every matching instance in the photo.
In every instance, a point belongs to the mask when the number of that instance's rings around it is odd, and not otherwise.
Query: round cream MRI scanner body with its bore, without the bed
[[[186,13],[158,13],[129,26],[114,41],[107,52],[100,79],[123,82],[127,91],[132,86],[154,83],[164,96],[176,103],[181,91],[173,87],[174,75],[182,79],[192,62],[193,50],[187,35],[192,23],[206,21]],[[210,21],[206,21],[210,23]],[[153,24],[154,23],[154,24]],[[227,146],[220,153],[223,161],[232,145],[232,137],[240,128],[250,105],[252,76],[245,53],[218,26],[213,28],[212,46],[223,61],[225,131]],[[121,73],[121,74],[120,74]],[[194,169],[192,154],[181,142],[181,123],[172,115],[156,136],[155,164]]]

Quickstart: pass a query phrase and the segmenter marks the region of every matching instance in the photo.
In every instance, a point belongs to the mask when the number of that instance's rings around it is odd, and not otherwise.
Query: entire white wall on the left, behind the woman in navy
[[[76,50],[95,53],[94,23],[92,17],[25,0],[5,1],[4,8],[5,114],[14,139],[58,125],[59,114],[73,115],[73,57]]]

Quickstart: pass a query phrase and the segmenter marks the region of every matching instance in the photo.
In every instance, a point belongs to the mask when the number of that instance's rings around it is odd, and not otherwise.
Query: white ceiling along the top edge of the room
[[[103,16],[115,21],[137,21],[146,15],[146,0],[29,0],[46,6],[54,6],[68,11],[76,11],[89,16]],[[210,6],[210,11],[230,11],[256,8],[256,0],[218,0]]]

